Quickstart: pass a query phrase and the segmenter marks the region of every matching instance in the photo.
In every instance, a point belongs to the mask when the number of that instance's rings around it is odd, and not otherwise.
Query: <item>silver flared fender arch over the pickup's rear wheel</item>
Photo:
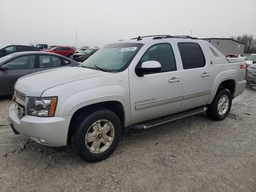
[[[212,93],[211,93],[210,99],[208,101],[208,104],[212,103],[212,100],[214,99],[214,97],[216,95],[219,85],[226,80],[234,80],[236,83],[237,75],[238,75],[237,70],[227,70],[227,71],[220,72],[214,80],[214,84],[212,87]]]

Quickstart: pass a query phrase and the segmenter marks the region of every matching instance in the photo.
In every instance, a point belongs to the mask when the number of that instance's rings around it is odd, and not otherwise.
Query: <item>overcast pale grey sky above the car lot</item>
[[[256,36],[256,0],[1,0],[0,46],[103,46],[146,35]]]

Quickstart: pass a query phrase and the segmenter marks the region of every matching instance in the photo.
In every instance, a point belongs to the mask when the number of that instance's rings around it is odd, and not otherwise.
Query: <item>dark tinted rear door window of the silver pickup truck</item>
[[[197,43],[178,43],[183,69],[200,68],[205,66],[202,49]]]

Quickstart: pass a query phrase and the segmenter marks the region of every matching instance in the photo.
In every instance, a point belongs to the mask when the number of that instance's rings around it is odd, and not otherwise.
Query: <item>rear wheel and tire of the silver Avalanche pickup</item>
[[[232,96],[228,89],[218,90],[206,114],[213,120],[224,120],[230,112],[232,106]]]

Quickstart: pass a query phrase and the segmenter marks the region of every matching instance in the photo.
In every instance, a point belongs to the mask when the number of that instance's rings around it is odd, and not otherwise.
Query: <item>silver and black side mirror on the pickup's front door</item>
[[[145,61],[141,67],[136,67],[135,72],[139,77],[143,77],[145,73],[153,73],[161,71],[161,64],[158,61]]]

